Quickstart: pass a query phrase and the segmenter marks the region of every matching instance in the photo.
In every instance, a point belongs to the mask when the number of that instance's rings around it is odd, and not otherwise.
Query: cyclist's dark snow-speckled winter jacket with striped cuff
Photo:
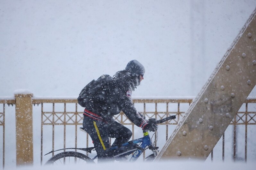
[[[121,111],[135,125],[144,128],[148,123],[144,117],[136,111],[132,102],[134,80],[126,71],[119,71],[114,78],[107,79],[102,90],[97,95],[84,100],[85,109],[93,112],[109,122],[114,121],[113,116]]]

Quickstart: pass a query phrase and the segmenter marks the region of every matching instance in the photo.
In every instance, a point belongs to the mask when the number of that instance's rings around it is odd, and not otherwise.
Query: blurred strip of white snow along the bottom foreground
[[[134,162],[134,163],[124,163],[124,162],[115,162],[115,163],[101,163],[101,164],[85,164],[85,165],[66,165],[66,166],[33,166],[33,167],[18,167],[19,170],[70,170],[70,169],[91,169],[91,170],[131,170],[131,169],[140,169],[140,170],[155,170],[161,168],[161,170],[170,170],[170,169],[179,169],[179,170],[216,170],[216,169],[232,169],[232,170],[254,170],[255,163],[234,163],[234,162],[210,162],[203,163],[201,161],[181,161],[181,160],[171,160],[171,161],[162,161],[162,162]],[[5,168],[10,169],[10,168]],[[12,168],[13,169],[13,168]],[[15,169],[15,168],[14,168]]]

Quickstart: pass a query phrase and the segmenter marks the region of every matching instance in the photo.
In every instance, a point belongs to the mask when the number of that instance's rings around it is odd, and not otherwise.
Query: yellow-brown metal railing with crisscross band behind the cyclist
[[[158,141],[155,145],[161,148],[161,145],[172,134],[174,128],[177,126],[179,120],[184,116],[185,111],[192,103],[190,99],[133,99],[134,105],[139,112],[141,112],[146,119],[156,118],[162,119],[169,115],[176,115],[175,120],[169,120],[159,125],[160,131],[158,131]],[[1,99],[0,100],[0,135],[3,140],[0,141],[0,151],[3,154],[0,156],[2,167],[5,163],[5,107],[6,104],[15,104],[13,99]],[[43,164],[47,160],[47,157],[43,159],[43,155],[47,151],[53,151],[60,148],[79,148],[79,147],[91,147],[93,146],[90,136],[79,135],[79,127],[82,126],[83,121],[83,108],[77,104],[77,100],[74,99],[46,99],[46,98],[32,98],[32,104],[37,105],[40,108],[41,117],[41,134],[40,134],[40,162]],[[35,113],[33,113],[35,114]],[[121,112],[114,116],[115,120],[124,124],[132,130],[132,139],[141,137],[141,130],[133,125],[133,123]],[[230,128],[232,129],[232,144],[230,143],[229,134],[226,132],[223,134],[221,141],[219,141],[220,149],[214,148],[209,156],[210,160],[217,160],[218,152],[220,151],[221,159],[225,160],[225,155],[232,154],[232,159],[247,161],[255,153],[251,153],[253,148],[248,148],[248,135],[252,130],[251,126],[256,125],[256,99],[247,99],[239,112],[236,114]],[[229,129],[230,129],[229,128]],[[241,133],[243,131],[243,133]],[[241,137],[242,134],[242,137]],[[39,135],[39,134],[38,134]],[[154,135],[156,138],[157,135]],[[0,138],[0,139],[1,139]],[[250,137],[249,137],[250,138]],[[228,141],[227,141],[228,139]],[[110,139],[111,140],[111,139]],[[243,141],[243,149],[241,149],[241,140]],[[251,138],[249,139],[251,140]],[[228,143],[229,142],[229,143]],[[238,144],[239,143],[239,144]],[[232,151],[230,146],[232,145]],[[227,147],[228,146],[228,147]],[[65,151],[65,150],[64,150]],[[213,154],[213,152],[215,154]],[[250,153],[249,153],[250,152]],[[241,156],[241,153],[243,156]],[[87,153],[88,154],[88,153]],[[147,154],[147,152],[146,152]],[[53,154],[50,154],[52,156]],[[228,155],[230,156],[230,155]],[[145,158],[145,152],[143,153]],[[0,166],[1,166],[0,164]]]

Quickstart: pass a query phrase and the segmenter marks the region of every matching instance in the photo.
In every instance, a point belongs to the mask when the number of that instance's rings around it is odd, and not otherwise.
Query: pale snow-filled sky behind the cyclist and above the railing
[[[256,0],[2,0],[0,97],[16,89],[77,97],[92,79],[114,75],[132,59],[146,69],[133,97],[196,96],[255,7]],[[6,108],[6,130],[15,129],[14,110]],[[39,114],[34,123],[37,137]],[[11,165],[15,132],[6,134]]]

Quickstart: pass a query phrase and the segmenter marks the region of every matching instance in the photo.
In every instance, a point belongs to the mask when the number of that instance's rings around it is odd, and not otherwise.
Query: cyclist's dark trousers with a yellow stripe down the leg
[[[112,152],[109,151],[109,137],[115,138],[112,144],[115,146],[128,142],[132,136],[131,130],[116,121],[104,122],[87,116],[83,118],[83,128],[93,141],[99,161],[112,157]]]

